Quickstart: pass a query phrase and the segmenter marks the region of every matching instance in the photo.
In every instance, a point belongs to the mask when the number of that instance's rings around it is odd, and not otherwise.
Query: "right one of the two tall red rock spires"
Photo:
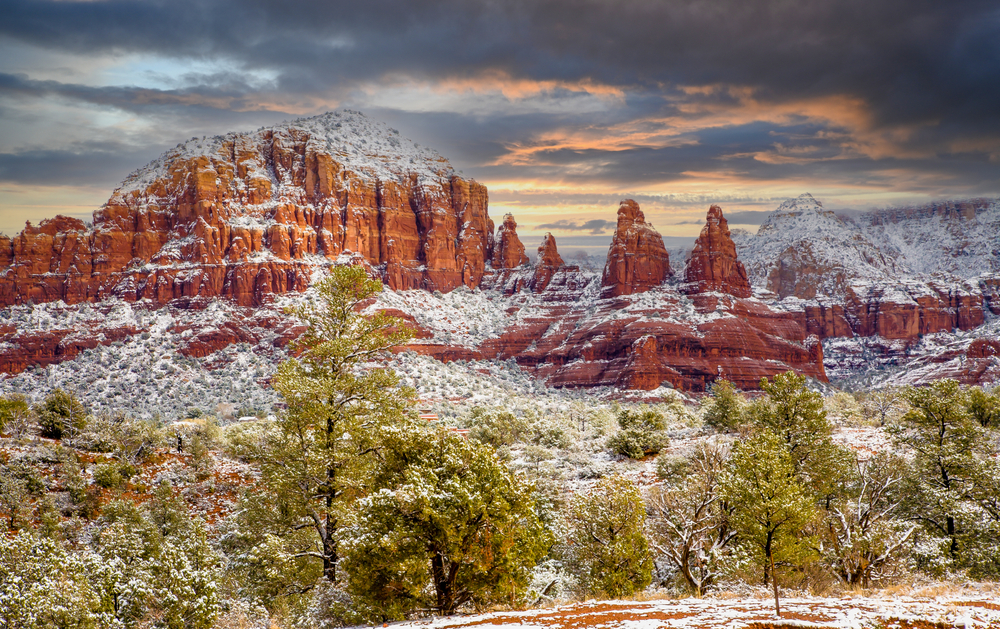
[[[746,269],[736,259],[729,223],[718,205],[708,208],[705,227],[695,241],[684,271],[684,281],[688,283],[685,292],[719,291],[736,297],[749,297],[753,293]]]

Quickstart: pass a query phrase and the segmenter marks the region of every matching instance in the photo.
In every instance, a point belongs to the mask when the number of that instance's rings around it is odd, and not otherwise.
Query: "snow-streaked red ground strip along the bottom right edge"
[[[515,625],[538,629],[736,629],[740,627],[1000,627],[995,598],[921,596],[795,597],[781,601],[782,618],[774,601],[761,598],[687,598],[648,602],[587,601],[550,609],[495,612],[394,623],[397,628],[452,629]]]

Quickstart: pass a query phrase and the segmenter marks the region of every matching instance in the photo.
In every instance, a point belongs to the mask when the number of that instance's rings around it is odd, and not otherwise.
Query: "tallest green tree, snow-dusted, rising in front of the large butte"
[[[235,569],[291,579],[258,583],[268,605],[269,594],[313,588],[316,562],[337,581],[344,518],[368,491],[385,431],[408,421],[411,405],[412,392],[392,371],[371,366],[411,338],[400,320],[360,312],[381,282],[361,267],[339,266],[315,289],[290,311],[305,331],[272,380],[287,410],[263,445],[246,452],[260,464],[266,497],[248,497],[227,536]]]

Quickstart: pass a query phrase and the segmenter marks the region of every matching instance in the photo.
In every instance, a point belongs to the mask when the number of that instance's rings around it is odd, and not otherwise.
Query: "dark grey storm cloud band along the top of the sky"
[[[79,52],[222,55],[307,90],[387,73],[850,94],[880,124],[996,131],[1000,7],[986,0],[6,0],[0,33]]]

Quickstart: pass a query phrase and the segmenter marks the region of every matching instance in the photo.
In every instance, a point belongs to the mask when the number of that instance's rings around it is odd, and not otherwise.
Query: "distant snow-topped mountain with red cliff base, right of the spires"
[[[935,253],[926,256],[927,260],[920,253],[902,255],[893,243],[906,239],[900,234],[889,238],[884,233],[887,225],[915,222],[907,229],[919,235],[913,237],[925,249],[952,243],[965,251],[965,245],[953,243],[953,234],[939,223],[964,221],[974,228],[969,221],[977,220],[990,225],[995,211],[995,205],[985,203],[942,203],[923,212],[885,211],[845,220],[804,194],[782,203],[756,236],[745,237],[737,245],[752,279],[779,299],[803,300],[804,324],[820,338],[914,340],[982,325],[993,296],[992,281],[988,276],[941,275],[929,260],[947,260],[949,255]],[[865,225],[878,229],[864,229]],[[938,225],[936,237],[928,232],[928,225]],[[883,237],[888,242],[880,245]],[[895,255],[886,253],[894,249]],[[920,257],[922,268],[937,269],[939,274],[927,277],[915,271],[914,255]],[[983,263],[979,272],[990,268]]]

